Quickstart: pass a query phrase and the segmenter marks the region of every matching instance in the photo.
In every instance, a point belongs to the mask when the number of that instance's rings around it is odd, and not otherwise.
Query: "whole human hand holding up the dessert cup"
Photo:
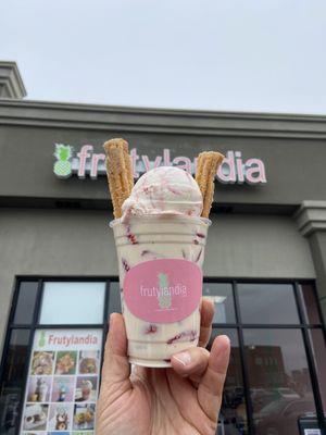
[[[122,314],[110,316],[97,435],[214,435],[221,408],[230,345],[214,339],[214,307],[203,299],[199,347],[172,357],[170,369],[136,365],[130,373]]]

